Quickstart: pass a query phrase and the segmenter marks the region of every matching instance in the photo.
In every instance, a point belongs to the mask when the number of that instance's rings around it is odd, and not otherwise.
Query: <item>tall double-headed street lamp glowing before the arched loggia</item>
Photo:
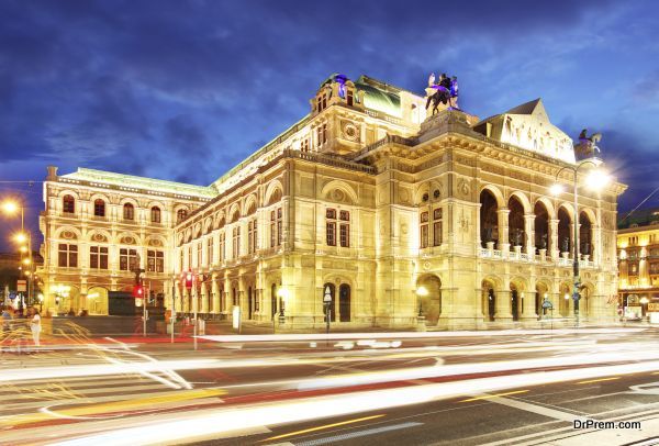
[[[556,174],[556,183],[554,186],[551,186],[551,188],[550,188],[550,192],[554,196],[558,196],[558,194],[562,193],[563,189],[562,189],[562,186],[558,182],[558,177],[566,169],[572,170],[572,172],[573,172],[572,186],[573,186],[573,196],[574,196],[573,197],[573,200],[574,200],[574,218],[573,218],[574,239],[572,242],[572,255],[574,257],[573,264],[572,264],[572,269],[573,269],[574,277],[573,277],[572,299],[574,300],[574,323],[576,324],[579,324],[579,287],[581,286],[581,279],[579,277],[579,256],[580,256],[580,254],[579,254],[579,200],[578,200],[579,177],[578,177],[578,172],[579,172],[579,169],[582,168],[583,166],[587,166],[587,165],[593,166],[593,169],[589,172],[589,175],[585,178],[585,185],[589,187],[589,189],[600,190],[604,186],[606,186],[606,183],[610,180],[608,175],[605,171],[599,169],[601,164],[602,164],[601,159],[593,157],[590,159],[583,159],[583,160],[577,163],[576,166],[565,166]],[[567,298],[567,299],[569,299],[569,298]]]

